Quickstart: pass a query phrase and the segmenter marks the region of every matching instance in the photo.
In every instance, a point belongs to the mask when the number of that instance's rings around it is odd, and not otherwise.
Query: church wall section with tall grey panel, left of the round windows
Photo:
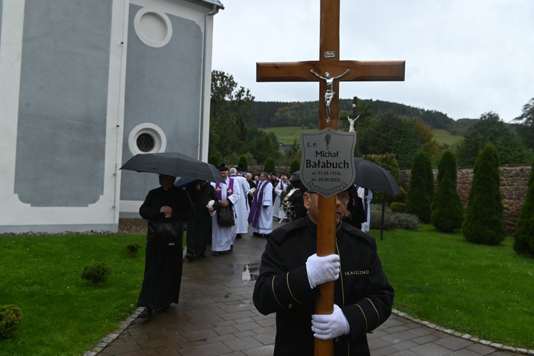
[[[116,231],[125,1],[1,8],[0,232]]]

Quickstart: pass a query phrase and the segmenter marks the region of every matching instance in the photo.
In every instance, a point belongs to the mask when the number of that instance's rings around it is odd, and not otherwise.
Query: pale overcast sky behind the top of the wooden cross
[[[318,100],[317,82],[256,83],[256,62],[319,60],[320,0],[221,1],[212,68],[258,101]],[[339,98],[402,103],[455,120],[493,111],[507,122],[534,98],[533,0],[340,1],[340,59],[406,61],[406,76],[341,82]]]

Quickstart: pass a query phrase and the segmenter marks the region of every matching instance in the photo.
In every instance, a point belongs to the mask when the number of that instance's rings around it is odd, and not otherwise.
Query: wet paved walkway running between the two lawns
[[[252,303],[265,243],[249,234],[236,240],[231,253],[184,262],[178,305],[152,320],[137,318],[138,310],[122,333],[108,335],[86,355],[272,355],[274,315],[261,315]],[[516,355],[399,315],[368,339],[373,356]]]

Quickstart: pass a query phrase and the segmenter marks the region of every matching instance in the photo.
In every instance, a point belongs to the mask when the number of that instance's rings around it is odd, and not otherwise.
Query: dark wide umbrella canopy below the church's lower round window
[[[140,153],[130,158],[120,169],[224,183],[219,169],[216,169],[213,164],[199,161],[179,152]]]

